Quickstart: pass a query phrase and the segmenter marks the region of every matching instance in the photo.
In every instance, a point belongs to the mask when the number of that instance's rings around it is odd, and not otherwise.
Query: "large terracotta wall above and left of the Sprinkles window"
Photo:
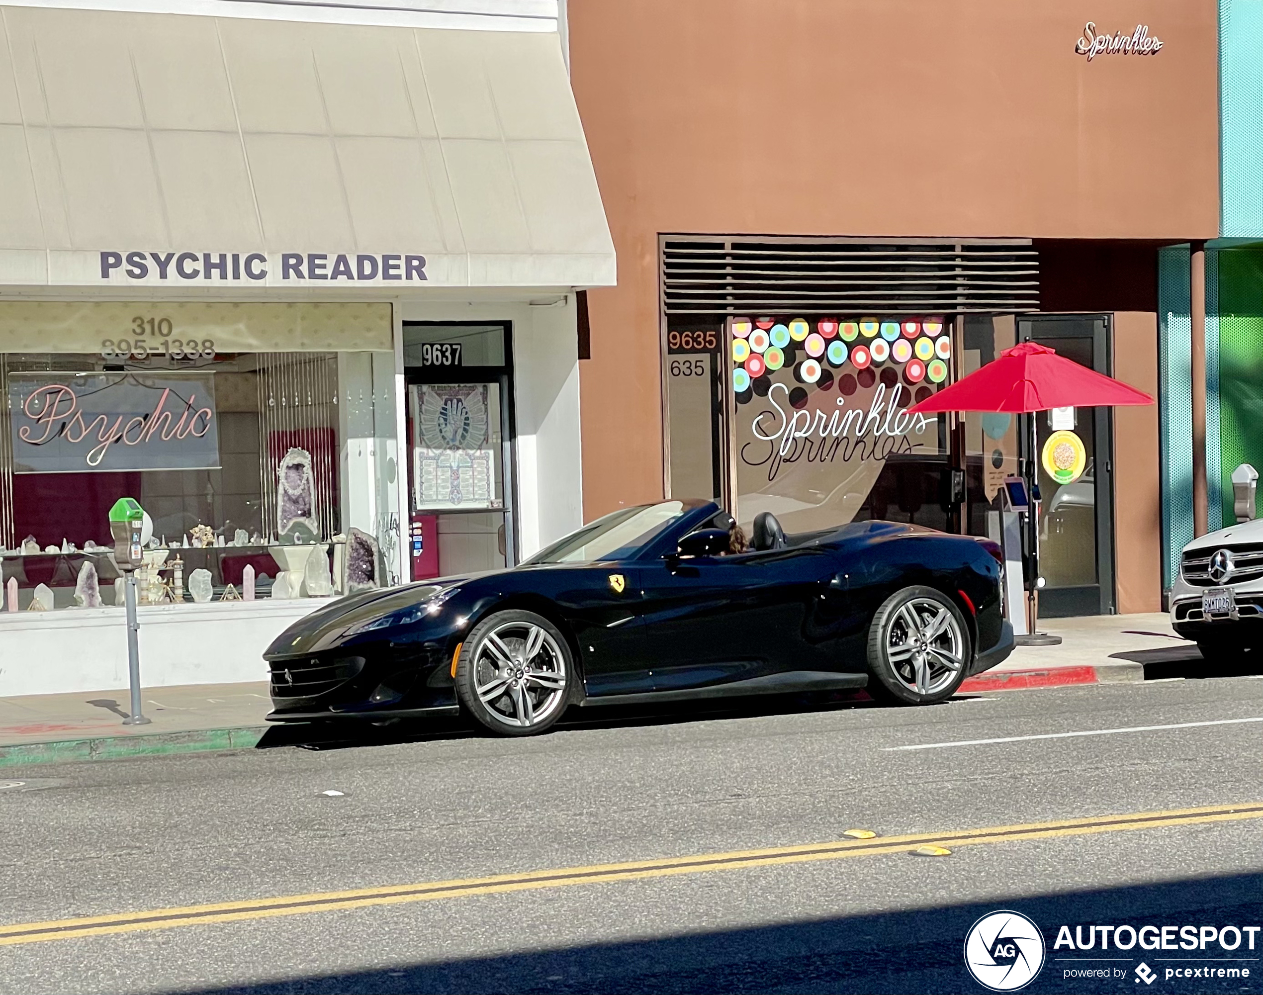
[[[570,0],[619,285],[581,364],[585,516],[662,495],[658,234],[1214,237],[1215,4]],[[1084,24],[1157,56],[1074,52]]]

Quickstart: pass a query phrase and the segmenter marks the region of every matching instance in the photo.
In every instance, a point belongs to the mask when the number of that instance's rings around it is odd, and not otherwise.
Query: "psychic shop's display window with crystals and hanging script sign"
[[[4,303],[0,349],[6,606],[91,601],[87,564],[115,604],[123,496],[141,604],[398,581],[389,306]]]

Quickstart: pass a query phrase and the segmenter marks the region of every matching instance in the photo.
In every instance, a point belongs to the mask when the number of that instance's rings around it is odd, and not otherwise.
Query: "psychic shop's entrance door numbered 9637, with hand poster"
[[[512,567],[509,326],[405,322],[403,340],[410,578]]]

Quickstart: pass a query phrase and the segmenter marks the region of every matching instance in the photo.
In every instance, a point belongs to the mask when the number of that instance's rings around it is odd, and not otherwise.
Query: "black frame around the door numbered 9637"
[[[504,475],[504,561],[505,566],[513,567],[522,561],[522,551],[518,540],[518,419],[517,399],[513,390],[513,322],[510,321],[405,321],[403,332],[408,328],[489,328],[498,326],[504,335],[504,364],[500,366],[404,366],[404,405],[407,412],[408,388],[413,384],[466,384],[486,383],[500,386],[500,437],[503,439],[500,452],[500,472]],[[412,419],[405,418],[408,437],[405,439],[408,452],[408,508],[404,514],[412,519]],[[452,509],[443,514],[461,514],[461,509]],[[479,513],[470,513],[479,514]]]

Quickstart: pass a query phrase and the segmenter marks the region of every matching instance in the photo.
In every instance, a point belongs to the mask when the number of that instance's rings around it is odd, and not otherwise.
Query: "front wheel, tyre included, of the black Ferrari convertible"
[[[532,611],[498,611],[470,633],[456,662],[456,693],[503,736],[543,732],[570,701],[573,660],[557,628]]]

